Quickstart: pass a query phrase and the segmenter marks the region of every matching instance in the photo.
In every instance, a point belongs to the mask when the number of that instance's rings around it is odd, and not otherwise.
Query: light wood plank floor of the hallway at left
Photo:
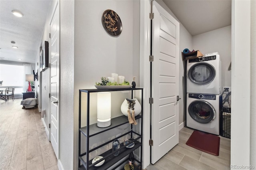
[[[37,108],[0,101],[0,170],[58,170]]]

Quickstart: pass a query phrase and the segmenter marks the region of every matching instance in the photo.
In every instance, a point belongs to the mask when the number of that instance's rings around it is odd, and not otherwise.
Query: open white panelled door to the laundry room
[[[153,1],[152,20],[152,140],[151,163],[178,144],[180,24]]]

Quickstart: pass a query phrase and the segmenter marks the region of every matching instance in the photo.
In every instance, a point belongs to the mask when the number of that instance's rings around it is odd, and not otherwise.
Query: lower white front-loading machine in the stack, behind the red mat
[[[220,111],[220,95],[187,93],[187,127],[219,135]]]

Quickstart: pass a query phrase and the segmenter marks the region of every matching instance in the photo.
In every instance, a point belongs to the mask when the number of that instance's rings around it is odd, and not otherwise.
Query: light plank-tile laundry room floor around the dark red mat
[[[182,128],[179,143],[146,170],[230,170],[230,139],[220,136],[219,156],[214,156],[186,145],[193,131]]]

